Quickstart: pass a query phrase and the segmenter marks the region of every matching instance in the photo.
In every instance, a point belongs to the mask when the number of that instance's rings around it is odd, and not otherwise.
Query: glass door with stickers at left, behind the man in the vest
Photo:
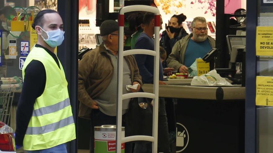
[[[0,120],[16,130],[16,106],[20,97],[22,68],[37,34],[31,28],[35,16],[42,9],[57,9],[57,0],[1,1],[0,8],[0,77],[1,92],[10,93],[8,104],[2,104]],[[2,101],[6,97],[2,97]]]

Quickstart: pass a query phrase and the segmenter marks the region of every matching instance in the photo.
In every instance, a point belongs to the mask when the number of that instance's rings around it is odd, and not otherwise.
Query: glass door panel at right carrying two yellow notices
[[[273,2],[259,0],[256,29],[257,153],[273,152]]]

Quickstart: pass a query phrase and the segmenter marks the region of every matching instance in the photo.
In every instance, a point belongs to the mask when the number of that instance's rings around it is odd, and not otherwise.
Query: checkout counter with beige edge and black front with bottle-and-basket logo
[[[175,101],[176,152],[244,152],[245,87],[190,86],[191,80],[159,85],[159,97]],[[153,84],[142,88],[153,93]]]

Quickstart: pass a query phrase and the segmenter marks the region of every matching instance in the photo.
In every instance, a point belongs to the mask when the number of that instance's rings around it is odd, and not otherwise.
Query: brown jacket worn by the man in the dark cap
[[[136,81],[142,86],[135,58],[129,55],[125,60],[131,71],[131,82]],[[111,57],[103,44],[83,55],[78,71],[79,117],[90,119],[93,99],[105,91],[114,72]]]

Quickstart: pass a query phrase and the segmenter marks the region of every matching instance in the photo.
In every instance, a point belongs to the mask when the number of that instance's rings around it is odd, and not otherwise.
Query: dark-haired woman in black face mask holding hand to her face
[[[172,52],[173,45],[188,35],[186,30],[182,26],[182,22],[186,20],[186,15],[183,13],[180,15],[173,15],[169,20],[169,25],[166,27],[166,30],[162,32],[162,37],[160,39],[160,46],[162,46],[167,52],[167,58]]]

